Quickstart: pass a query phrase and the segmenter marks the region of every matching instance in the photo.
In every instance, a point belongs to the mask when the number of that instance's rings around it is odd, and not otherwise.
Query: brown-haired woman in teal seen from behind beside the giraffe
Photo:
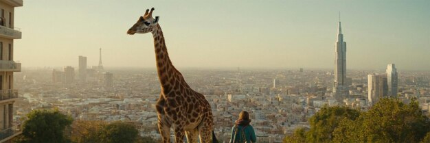
[[[257,142],[256,133],[249,122],[251,119],[249,119],[248,112],[240,112],[236,125],[231,129],[230,143]]]

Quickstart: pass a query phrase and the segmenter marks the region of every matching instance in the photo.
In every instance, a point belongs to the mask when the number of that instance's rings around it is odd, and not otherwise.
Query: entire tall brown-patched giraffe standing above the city
[[[170,143],[170,128],[174,130],[175,142],[188,143],[218,142],[214,134],[212,109],[203,94],[188,86],[182,74],[170,61],[163,31],[158,24],[159,16],[152,17],[154,8],[146,10],[137,23],[128,29],[127,34],[152,33],[155,47],[157,73],[161,84],[161,93],[157,101],[158,128],[163,143]]]

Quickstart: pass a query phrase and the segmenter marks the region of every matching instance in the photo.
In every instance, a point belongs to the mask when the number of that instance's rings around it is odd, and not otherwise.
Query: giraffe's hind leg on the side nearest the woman
[[[212,116],[205,116],[199,125],[201,143],[212,143],[212,131],[214,131]]]

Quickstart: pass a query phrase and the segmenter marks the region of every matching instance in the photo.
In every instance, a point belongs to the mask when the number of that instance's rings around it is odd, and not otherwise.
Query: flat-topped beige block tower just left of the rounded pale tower
[[[387,96],[388,85],[387,76],[384,75],[367,75],[367,98],[369,103],[376,103],[379,99]]]

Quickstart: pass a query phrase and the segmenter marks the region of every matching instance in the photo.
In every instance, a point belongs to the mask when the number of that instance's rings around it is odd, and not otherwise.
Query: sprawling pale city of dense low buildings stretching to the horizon
[[[54,83],[49,80],[52,68],[26,69],[17,73],[16,86],[24,91],[20,92],[22,97],[16,103],[19,108],[14,109],[16,120],[25,118],[25,114],[31,109],[58,107],[75,120],[122,120],[133,123],[141,135],[159,138],[155,112],[160,92],[157,70],[105,69],[115,75],[111,86],[106,86],[106,81]],[[297,127],[308,127],[308,118],[324,105],[341,104],[367,110],[372,106],[367,98],[367,76],[385,73],[385,70],[348,70],[348,76],[352,79],[351,98],[337,102],[332,97],[332,70],[308,69],[300,72],[298,68],[241,68],[240,76],[237,69],[185,68],[181,71],[190,87],[204,94],[210,102],[218,139],[228,141],[234,120],[238,118],[240,111],[247,110],[253,120],[251,125],[256,129],[261,142],[280,142]],[[381,76],[384,77],[385,74]],[[105,76],[102,79],[106,80]],[[273,79],[276,79],[275,88]],[[399,99],[408,103],[412,98],[417,98],[422,111],[428,114],[430,73],[402,70],[398,79]]]

